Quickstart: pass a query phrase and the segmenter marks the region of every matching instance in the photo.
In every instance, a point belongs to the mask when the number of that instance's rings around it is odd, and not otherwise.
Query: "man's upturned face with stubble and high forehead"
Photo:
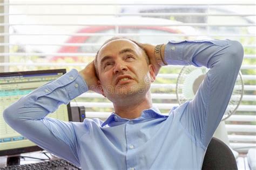
[[[105,44],[98,53],[97,67],[104,95],[112,102],[145,95],[155,78],[143,50],[126,39]]]

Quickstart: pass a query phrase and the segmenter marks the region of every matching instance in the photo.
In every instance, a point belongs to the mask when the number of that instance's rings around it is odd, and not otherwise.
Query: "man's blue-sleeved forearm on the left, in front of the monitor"
[[[6,108],[4,110],[5,121],[9,123],[18,121],[18,119],[24,121],[44,118],[50,112],[56,111],[60,104],[68,104],[85,91],[87,91],[87,86],[74,69],[59,79],[35,89]]]

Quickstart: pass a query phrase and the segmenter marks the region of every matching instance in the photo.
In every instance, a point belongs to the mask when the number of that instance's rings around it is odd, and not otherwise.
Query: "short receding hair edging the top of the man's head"
[[[145,48],[142,46],[142,44],[140,44],[139,42],[135,41],[135,40],[132,40],[130,38],[126,38],[126,37],[112,37],[108,40],[106,40],[102,46],[100,46],[99,50],[97,51],[96,53],[96,56],[95,56],[95,70],[96,70],[96,75],[98,76],[99,78],[99,71],[98,71],[98,68],[97,68],[97,58],[98,58],[98,54],[99,54],[99,51],[100,49],[102,49],[102,47],[107,44],[107,42],[110,42],[110,41],[113,41],[113,40],[117,40],[117,39],[126,39],[126,40],[130,40],[132,42],[134,42],[134,44],[136,44],[137,46],[139,46],[142,50],[143,50],[143,53],[145,54],[145,59],[146,59],[146,62],[147,62],[147,65],[150,65],[150,60],[149,60],[149,56],[147,56],[147,53],[145,51]]]

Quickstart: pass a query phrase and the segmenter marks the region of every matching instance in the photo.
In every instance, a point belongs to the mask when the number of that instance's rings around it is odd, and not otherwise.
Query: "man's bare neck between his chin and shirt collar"
[[[152,100],[150,92],[144,98],[132,98],[113,103],[114,111],[122,118],[134,119],[140,117],[142,111],[152,107]]]

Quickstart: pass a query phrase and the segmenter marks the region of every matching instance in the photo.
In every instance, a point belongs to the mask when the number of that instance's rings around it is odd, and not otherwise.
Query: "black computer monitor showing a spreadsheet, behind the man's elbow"
[[[3,111],[22,96],[29,94],[45,83],[56,80],[65,73],[66,69],[0,73],[0,156],[14,156],[21,153],[43,150],[10,128],[3,119]],[[60,105],[58,110],[48,116],[62,121],[71,121],[70,103],[68,105]],[[9,156],[8,161],[10,162],[7,165],[19,164],[18,158]]]

